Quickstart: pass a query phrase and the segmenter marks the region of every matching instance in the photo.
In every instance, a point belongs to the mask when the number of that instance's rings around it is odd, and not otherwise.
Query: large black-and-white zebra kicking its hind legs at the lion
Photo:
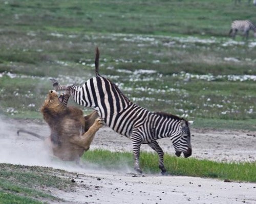
[[[169,137],[176,150],[176,156],[183,152],[187,158],[192,154],[190,144],[189,122],[175,115],[150,112],[130,101],[119,88],[98,72],[99,50],[96,48],[96,77],[89,79],[82,86],[61,86],[51,79],[56,91],[66,90],[79,105],[92,107],[105,124],[117,133],[132,140],[134,169],[142,172],[139,166],[141,144],[148,144],[159,156],[159,168],[162,174],[164,152],[157,139]]]

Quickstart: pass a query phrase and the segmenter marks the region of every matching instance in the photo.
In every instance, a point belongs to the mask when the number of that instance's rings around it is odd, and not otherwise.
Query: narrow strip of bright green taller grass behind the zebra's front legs
[[[82,158],[86,162],[100,164],[109,170],[133,168],[131,152],[111,152],[108,150],[90,150]],[[253,163],[221,163],[195,158],[177,158],[165,154],[164,164],[170,175],[209,177],[221,180],[256,182],[256,162]],[[159,173],[158,156],[151,152],[141,152],[140,167],[144,173]]]

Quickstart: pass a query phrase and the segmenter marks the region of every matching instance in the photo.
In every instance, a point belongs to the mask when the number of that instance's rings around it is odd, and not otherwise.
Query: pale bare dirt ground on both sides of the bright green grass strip
[[[28,135],[16,135],[19,128],[49,135],[44,122],[0,118],[0,162],[24,165],[50,166],[79,172],[75,181],[89,188],[77,187],[73,192],[53,189],[53,195],[66,203],[256,203],[256,184],[224,183],[213,179],[186,176],[138,175],[133,169],[102,171],[95,166],[86,169],[59,164],[49,159],[42,142]],[[214,161],[255,161],[256,132],[216,131],[191,128],[193,155],[198,159]],[[164,152],[174,154],[169,139],[159,140]],[[93,148],[131,151],[131,141],[116,134],[109,127],[97,132]],[[151,151],[147,145],[142,150]],[[58,202],[59,203],[59,202]]]

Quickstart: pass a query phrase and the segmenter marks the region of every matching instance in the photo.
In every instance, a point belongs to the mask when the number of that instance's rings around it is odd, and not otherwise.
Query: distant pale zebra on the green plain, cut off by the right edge
[[[237,32],[243,32],[243,38],[246,37],[248,40],[249,31],[252,30],[254,32],[254,37],[256,37],[256,27],[250,20],[234,20],[231,23],[231,29],[229,31],[229,35],[234,39],[236,38]]]

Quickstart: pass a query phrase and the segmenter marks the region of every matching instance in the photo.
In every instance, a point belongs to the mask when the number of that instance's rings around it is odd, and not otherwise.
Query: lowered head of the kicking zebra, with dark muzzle
[[[182,152],[185,158],[192,155],[192,148],[190,143],[190,130],[188,125],[188,121],[181,120],[181,122],[178,124],[176,134],[173,137],[173,145],[177,157],[180,157]]]

